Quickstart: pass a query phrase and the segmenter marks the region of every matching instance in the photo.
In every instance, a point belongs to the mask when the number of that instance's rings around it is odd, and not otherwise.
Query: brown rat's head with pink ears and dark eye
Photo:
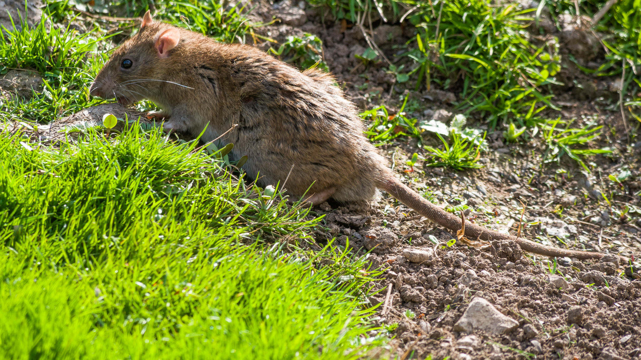
[[[178,45],[177,28],[156,22],[147,11],[137,35],[116,49],[89,88],[90,94],[121,105],[156,99],[160,84],[170,81],[172,53]]]

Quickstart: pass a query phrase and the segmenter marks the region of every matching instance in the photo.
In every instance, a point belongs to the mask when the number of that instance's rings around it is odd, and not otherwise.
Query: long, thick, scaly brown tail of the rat
[[[436,222],[451,231],[458,231],[461,229],[461,219],[451,213],[448,213],[435,204],[421,197],[414,190],[408,188],[405,184],[398,181],[395,177],[383,177],[378,181],[378,188],[385,190],[390,195],[403,202],[403,204],[414,209],[420,215]],[[558,247],[551,247],[535,243],[534,241],[526,240],[524,238],[517,239],[516,236],[510,234],[501,234],[496,231],[488,230],[485,227],[465,222],[465,236],[470,239],[480,238],[481,240],[512,240],[516,241],[520,248],[535,254],[549,256],[549,257],[567,257],[577,259],[600,259],[604,255],[602,252],[589,252],[579,250],[560,249]]]

